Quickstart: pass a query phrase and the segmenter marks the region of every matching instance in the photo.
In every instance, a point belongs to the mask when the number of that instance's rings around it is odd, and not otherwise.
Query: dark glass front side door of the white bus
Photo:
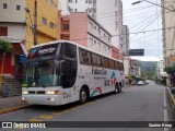
[[[60,61],[60,81],[63,88],[69,90],[68,96],[72,96],[72,90],[75,83],[78,60],[77,46],[65,43],[61,45],[61,55],[63,59]]]

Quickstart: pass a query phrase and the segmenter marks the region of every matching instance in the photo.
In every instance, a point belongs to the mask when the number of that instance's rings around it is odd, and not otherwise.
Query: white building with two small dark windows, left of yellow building
[[[0,36],[25,39],[24,8],[25,0],[0,0]]]

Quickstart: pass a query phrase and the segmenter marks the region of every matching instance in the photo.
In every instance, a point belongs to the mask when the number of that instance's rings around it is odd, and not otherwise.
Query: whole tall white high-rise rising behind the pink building
[[[96,19],[112,35],[112,44],[121,48],[122,2],[121,0],[60,0],[61,14],[88,12]],[[81,19],[78,19],[81,21]]]

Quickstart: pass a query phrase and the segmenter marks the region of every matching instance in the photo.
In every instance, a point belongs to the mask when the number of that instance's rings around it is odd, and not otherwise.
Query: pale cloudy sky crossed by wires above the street
[[[158,61],[162,59],[162,15],[161,8],[149,2],[138,0],[122,0],[124,24],[130,29],[130,48],[144,49],[144,57],[132,57],[142,61]],[[161,0],[149,0],[161,4]],[[159,29],[154,31],[153,29]],[[149,31],[149,32],[147,32]],[[132,34],[144,32],[139,34]]]

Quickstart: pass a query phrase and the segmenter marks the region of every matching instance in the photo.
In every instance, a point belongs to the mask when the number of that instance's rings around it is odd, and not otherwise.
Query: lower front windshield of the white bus
[[[56,83],[54,60],[28,62],[26,69],[26,84],[28,87],[55,86]]]

